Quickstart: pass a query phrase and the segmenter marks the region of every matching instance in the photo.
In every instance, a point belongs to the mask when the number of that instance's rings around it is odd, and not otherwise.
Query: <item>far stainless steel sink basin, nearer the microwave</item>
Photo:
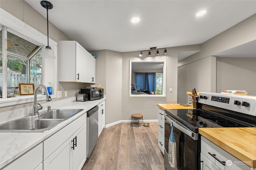
[[[82,111],[82,109],[52,109],[40,114],[40,117],[44,119],[67,119],[79,111]]]

